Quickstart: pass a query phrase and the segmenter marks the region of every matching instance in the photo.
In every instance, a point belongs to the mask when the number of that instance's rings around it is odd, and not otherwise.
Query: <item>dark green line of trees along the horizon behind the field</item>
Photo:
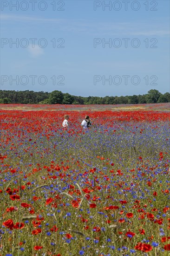
[[[170,93],[151,89],[147,94],[131,96],[74,96],[55,90],[48,92],[0,90],[0,103],[8,104],[144,104],[170,102]]]

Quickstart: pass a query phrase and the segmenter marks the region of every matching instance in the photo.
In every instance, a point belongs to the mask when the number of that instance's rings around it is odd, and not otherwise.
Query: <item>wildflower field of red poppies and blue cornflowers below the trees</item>
[[[0,256],[170,255],[168,103],[11,105],[0,110]]]

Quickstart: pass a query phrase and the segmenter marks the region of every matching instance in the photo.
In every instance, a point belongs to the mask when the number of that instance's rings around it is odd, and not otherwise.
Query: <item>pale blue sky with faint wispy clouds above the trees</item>
[[[1,0],[0,89],[168,92],[169,9],[169,0]]]

